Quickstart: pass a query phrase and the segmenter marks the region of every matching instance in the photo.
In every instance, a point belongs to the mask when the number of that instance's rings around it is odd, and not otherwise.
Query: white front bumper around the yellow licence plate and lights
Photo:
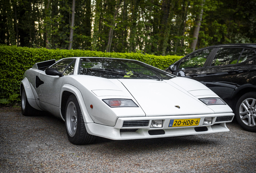
[[[203,125],[204,118],[212,117],[211,125]],[[96,123],[85,123],[87,132],[91,135],[114,140],[127,139],[147,139],[159,137],[173,137],[184,135],[198,135],[206,133],[227,132],[229,129],[226,123],[233,120],[233,113],[218,113],[206,115],[177,115],[177,116],[155,116],[155,117],[120,117],[114,127],[100,125]],[[171,119],[198,119],[197,126],[168,127]],[[149,120],[147,126],[123,127],[125,121],[145,121]],[[150,128],[152,120],[163,120],[163,127]]]

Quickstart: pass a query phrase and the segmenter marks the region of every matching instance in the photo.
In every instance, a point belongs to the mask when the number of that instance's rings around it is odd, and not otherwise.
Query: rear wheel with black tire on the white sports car
[[[29,105],[29,102],[27,101],[26,91],[24,88],[21,93],[21,112],[24,116],[35,116],[35,114],[38,113],[35,108]]]

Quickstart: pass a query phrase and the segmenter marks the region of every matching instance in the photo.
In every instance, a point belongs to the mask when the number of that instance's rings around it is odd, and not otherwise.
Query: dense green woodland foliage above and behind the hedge
[[[184,55],[198,34],[196,48],[256,42],[256,0],[1,0],[0,44],[68,49],[74,1],[73,49]]]

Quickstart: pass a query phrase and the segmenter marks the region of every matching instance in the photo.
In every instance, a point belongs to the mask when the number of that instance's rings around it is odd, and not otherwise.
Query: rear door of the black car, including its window
[[[201,71],[200,82],[209,87],[227,103],[233,91],[246,83],[246,60],[253,56],[254,50],[245,48],[221,47]]]

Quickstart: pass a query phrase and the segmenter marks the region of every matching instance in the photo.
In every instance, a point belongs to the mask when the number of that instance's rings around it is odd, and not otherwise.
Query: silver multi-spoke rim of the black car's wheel
[[[245,99],[239,107],[239,118],[248,127],[256,126],[256,99]]]

